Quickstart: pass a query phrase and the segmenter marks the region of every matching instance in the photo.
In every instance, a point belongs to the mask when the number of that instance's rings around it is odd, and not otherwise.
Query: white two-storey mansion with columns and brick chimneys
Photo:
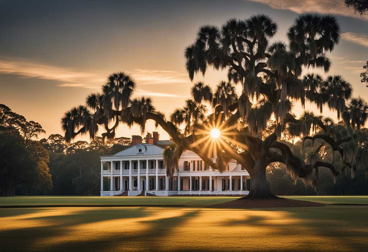
[[[248,172],[236,161],[226,171],[212,169],[192,151],[185,151],[169,185],[163,165],[163,148],[170,141],[160,141],[153,132],[145,137],[132,136],[132,146],[114,155],[101,158],[101,196],[144,195],[247,195]],[[216,161],[216,158],[214,158]],[[127,192],[127,193],[125,193]],[[143,195],[143,194],[142,194]]]

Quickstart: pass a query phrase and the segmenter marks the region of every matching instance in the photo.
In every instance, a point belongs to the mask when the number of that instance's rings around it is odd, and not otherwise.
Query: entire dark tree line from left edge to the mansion
[[[101,137],[90,143],[66,144],[64,137],[46,133],[0,104],[0,195],[99,195],[101,155],[110,155],[131,144],[127,137],[103,144]]]

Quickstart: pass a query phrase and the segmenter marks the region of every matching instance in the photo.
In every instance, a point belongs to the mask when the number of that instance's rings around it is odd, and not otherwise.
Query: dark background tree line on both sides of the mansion
[[[272,132],[275,125],[275,122],[269,123],[262,137]],[[362,137],[368,139],[367,129],[361,132]],[[99,195],[99,156],[115,154],[131,144],[131,139],[127,137],[116,138],[110,143],[103,143],[101,137],[96,137],[90,143],[77,141],[66,144],[60,134],[51,134],[47,139],[37,140],[41,133],[45,131],[39,123],[28,122],[7,106],[0,105],[1,196]],[[301,141],[295,141],[287,129],[280,141],[286,143],[294,153],[301,153]],[[316,141],[315,144],[320,143]],[[310,141],[305,142],[304,148],[308,153],[311,149]],[[325,160],[332,159],[331,153],[328,145],[321,150]],[[338,162],[335,165],[340,168]],[[318,177],[319,183],[314,190],[305,186],[301,180],[294,181],[284,164],[273,163],[267,168],[267,182],[276,195],[368,194],[364,170],[357,169],[352,179],[350,170],[346,169],[344,174],[337,176],[336,184],[326,168],[318,170]]]

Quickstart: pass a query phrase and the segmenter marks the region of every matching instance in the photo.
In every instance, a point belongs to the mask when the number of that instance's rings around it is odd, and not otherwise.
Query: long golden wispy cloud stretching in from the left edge
[[[59,87],[100,88],[101,78],[96,73],[75,71],[42,63],[35,63],[22,58],[0,58],[0,74],[16,74],[23,78],[55,80]]]

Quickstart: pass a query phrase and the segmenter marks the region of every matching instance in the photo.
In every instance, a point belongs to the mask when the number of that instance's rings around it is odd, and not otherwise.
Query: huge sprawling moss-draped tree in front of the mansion
[[[346,167],[352,171],[355,167],[366,168],[368,163],[362,156],[364,144],[348,147],[354,144],[355,134],[367,120],[365,101],[351,97],[351,84],[342,76],[325,79],[316,74],[302,76],[304,68],[329,71],[328,53],[340,39],[336,17],[301,14],[291,24],[286,42],[271,43],[277,28],[276,22],[264,14],[242,20],[231,18],[221,27],[200,27],[194,43],[184,53],[190,80],[196,74],[205,75],[208,67],[227,69],[228,79],[220,81],[215,91],[207,84],[195,83],[191,89],[193,99],[185,101],[183,108],[175,109],[169,120],[156,111],[151,99],[132,98],[135,83],[127,74],[110,75],[102,94],[90,95],[87,106],[66,112],[62,126],[67,141],[86,133],[93,138],[99,126],[106,131],[103,139],[111,140],[120,123],[128,126],[136,123],[143,132],[146,120],[152,119],[176,144],[164,152],[165,162],[171,164],[169,176],[177,169],[177,161],[170,159],[177,159],[184,150],[194,151],[219,171],[233,159],[251,176],[247,196],[250,199],[275,197],[266,183],[266,167],[274,162],[283,163],[294,180],[302,179],[313,187],[318,182],[319,167],[330,169],[333,177]],[[235,92],[238,84],[242,87],[240,94]],[[93,102],[89,102],[91,96],[96,97]],[[343,119],[345,132],[340,130],[337,134],[335,128],[339,124],[312,112],[305,111],[295,118],[294,104],[300,102],[304,106],[306,101],[315,104],[321,113],[324,106],[336,111],[337,117]],[[210,115],[206,102],[212,106]],[[276,120],[273,132],[262,137],[273,118]],[[220,130],[216,140],[210,136],[213,128]],[[279,141],[286,128],[290,136],[300,137],[302,143],[312,140],[308,158],[303,160]],[[342,170],[321,159],[319,152],[323,146],[315,148],[316,139],[339,153]]]

